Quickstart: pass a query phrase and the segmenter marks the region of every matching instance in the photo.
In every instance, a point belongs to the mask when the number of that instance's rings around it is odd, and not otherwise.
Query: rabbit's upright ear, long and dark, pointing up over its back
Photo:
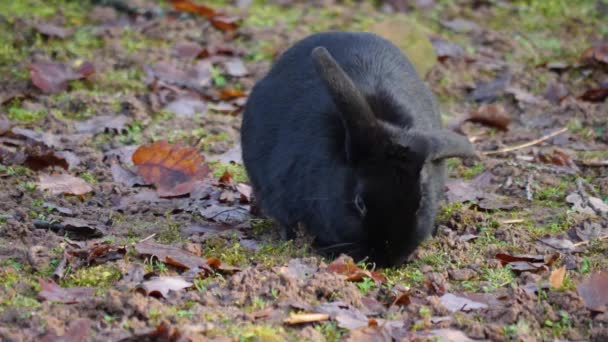
[[[363,157],[374,146],[378,124],[367,100],[326,48],[312,50],[315,70],[329,90],[346,129],[347,157]]]

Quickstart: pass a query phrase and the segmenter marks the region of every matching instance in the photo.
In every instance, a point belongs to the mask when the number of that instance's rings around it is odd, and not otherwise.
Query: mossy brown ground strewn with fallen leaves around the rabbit
[[[605,0],[204,3],[0,4],[2,340],[608,339]],[[330,29],[393,39],[480,155],[401,267],[281,240],[239,162]]]

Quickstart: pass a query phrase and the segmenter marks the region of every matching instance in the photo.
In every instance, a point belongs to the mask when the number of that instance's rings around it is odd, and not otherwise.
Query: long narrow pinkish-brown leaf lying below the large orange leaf
[[[207,260],[181,248],[161,245],[153,242],[139,242],[134,246],[139,255],[152,255],[159,261],[182,269],[202,269],[211,273],[213,270]]]

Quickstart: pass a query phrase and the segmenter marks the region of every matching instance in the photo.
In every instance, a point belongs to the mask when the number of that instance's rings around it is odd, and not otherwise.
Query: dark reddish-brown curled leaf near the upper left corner
[[[69,81],[79,80],[95,72],[93,65],[83,62],[72,68],[54,62],[35,62],[29,66],[32,83],[45,93],[58,93],[68,89]]]

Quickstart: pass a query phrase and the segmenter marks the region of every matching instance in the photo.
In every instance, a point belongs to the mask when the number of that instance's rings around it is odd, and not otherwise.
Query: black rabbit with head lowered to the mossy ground
[[[325,32],[288,49],[253,88],[243,161],[262,211],[321,251],[403,263],[431,233],[445,158],[474,156],[441,128],[431,91],[389,41]]]

